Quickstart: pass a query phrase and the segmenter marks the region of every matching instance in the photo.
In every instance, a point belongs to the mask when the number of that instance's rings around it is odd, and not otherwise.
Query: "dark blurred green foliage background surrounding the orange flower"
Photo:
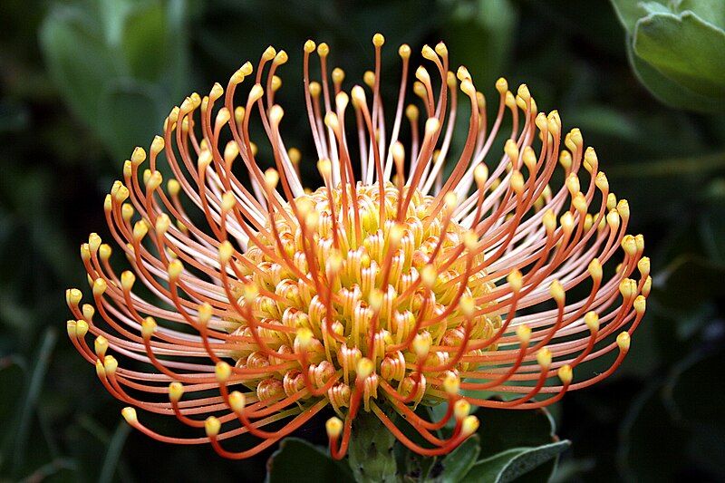
[[[543,110],[580,127],[633,232],[646,235],[654,288],[632,350],[609,381],[551,409],[571,440],[564,481],[725,478],[725,7],[719,0],[4,0],[0,6],[0,481],[285,479],[285,454],[324,478],[337,468],[323,420],[259,458],[163,445],[121,422],[121,405],[64,337],[75,258],[104,226],[102,197],[173,104],[227,79],[266,44],[290,53],[281,91],[293,143],[309,147],[299,81],[308,37],[358,79],[369,39],[449,44],[478,88],[527,82]],[[383,57],[394,92],[395,49]],[[387,81],[386,81],[387,79]],[[646,88],[646,89],[645,89]],[[649,90],[649,91],[648,91]],[[663,105],[664,102],[667,105]],[[672,107],[668,107],[672,106]],[[694,113],[707,111],[709,114]],[[302,120],[295,126],[294,120]],[[311,151],[308,151],[311,152]],[[397,456],[410,480],[456,481],[474,465],[556,445],[544,413],[481,414],[480,446],[441,460]],[[154,421],[164,424],[161,420]],[[469,443],[473,444],[473,443]],[[496,456],[509,452],[508,459]],[[538,452],[536,454],[544,454]],[[473,457],[471,458],[471,454]],[[556,458],[528,473],[544,479]],[[515,461],[516,462],[516,461]],[[494,470],[494,463],[498,464]],[[331,466],[332,465],[332,466]],[[493,474],[492,473],[492,474]],[[533,475],[533,477],[532,477]]]

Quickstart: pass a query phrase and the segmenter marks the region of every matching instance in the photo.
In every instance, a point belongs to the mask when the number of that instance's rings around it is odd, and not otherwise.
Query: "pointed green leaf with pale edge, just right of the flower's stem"
[[[556,459],[570,444],[568,440],[564,440],[535,448],[507,449],[488,459],[478,461],[469,470],[465,480],[481,483],[513,481],[546,461]]]

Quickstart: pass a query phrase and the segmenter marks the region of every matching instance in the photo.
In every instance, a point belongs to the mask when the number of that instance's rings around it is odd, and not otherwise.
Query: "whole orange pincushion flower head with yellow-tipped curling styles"
[[[335,458],[362,411],[408,448],[438,455],[478,428],[471,405],[545,406],[622,362],[650,291],[649,260],[582,133],[539,112],[526,85],[512,92],[499,79],[489,104],[465,67],[451,72],[443,43],[424,46],[414,71],[411,48],[400,47],[400,91],[386,106],[383,43],[373,37],[374,70],[350,91],[328,46],[304,44],[314,155],[285,145],[275,96],[287,54],[269,47],[226,87],[174,107],[149,153],[137,148],[125,162],[104,209],[131,269],[117,273],[111,245],[92,234],[81,247],[92,303],[77,289],[66,297],[73,344],[129,404],[122,414],[134,428],[242,459],[329,406]],[[497,138],[507,138],[502,154]],[[319,188],[304,187],[305,163]],[[609,369],[577,373],[611,352]],[[481,390],[509,397],[469,395]],[[441,420],[415,412],[440,402],[449,403]],[[134,408],[199,434],[162,435]],[[449,420],[455,430],[441,440],[433,431]],[[225,449],[247,432],[261,441]]]

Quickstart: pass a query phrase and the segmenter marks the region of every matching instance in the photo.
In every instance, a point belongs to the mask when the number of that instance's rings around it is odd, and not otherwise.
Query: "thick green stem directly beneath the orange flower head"
[[[353,421],[348,451],[350,468],[359,482],[397,481],[395,437],[372,413],[361,411]]]

